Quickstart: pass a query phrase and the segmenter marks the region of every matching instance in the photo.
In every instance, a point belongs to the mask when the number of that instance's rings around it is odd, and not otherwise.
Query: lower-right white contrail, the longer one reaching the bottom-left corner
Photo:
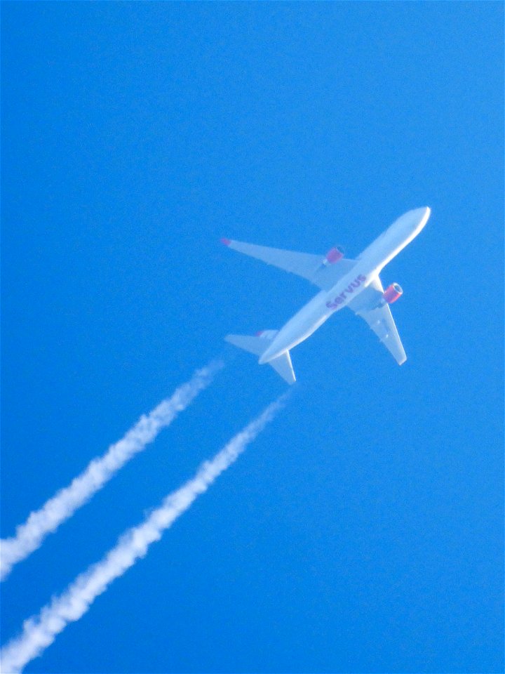
[[[206,461],[186,484],[166,496],[159,508],[154,510],[142,524],[126,531],[105,557],[93,564],[69,585],[67,590],[47,604],[38,616],[25,621],[22,634],[11,640],[0,652],[0,670],[18,673],[29,661],[40,655],[53,643],[57,634],[69,622],[79,620],[114,579],[146,555],[151,543],[159,541],[164,529],[168,529],[177,517],[189,508],[199,494],[207,491],[214,480],[252,442],[265,425],[283,406],[285,395],[269,405],[260,416],[233,437],[211,461]]]

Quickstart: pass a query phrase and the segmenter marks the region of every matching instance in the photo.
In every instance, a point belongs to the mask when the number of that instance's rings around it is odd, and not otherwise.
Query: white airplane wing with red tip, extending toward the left
[[[284,251],[279,248],[256,246],[241,241],[222,239],[222,242],[239,253],[244,253],[251,258],[262,260],[267,265],[274,265],[286,272],[307,279],[321,290],[330,290],[349,272],[356,264],[356,260],[343,258],[335,264],[325,265],[324,255],[311,255],[310,253],[297,253],[296,251]]]

